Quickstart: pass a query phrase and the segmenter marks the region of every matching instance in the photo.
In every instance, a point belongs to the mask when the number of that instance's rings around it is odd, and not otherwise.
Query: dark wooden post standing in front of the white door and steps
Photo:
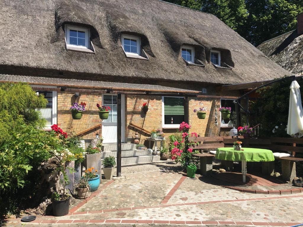
[[[122,111],[121,94],[117,95],[117,176],[121,176],[121,129],[122,129]]]

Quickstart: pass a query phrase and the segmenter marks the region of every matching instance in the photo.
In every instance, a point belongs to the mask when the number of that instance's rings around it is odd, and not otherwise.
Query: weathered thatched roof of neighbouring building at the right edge
[[[297,30],[265,41],[258,49],[286,70],[303,75],[303,35],[298,35]]]

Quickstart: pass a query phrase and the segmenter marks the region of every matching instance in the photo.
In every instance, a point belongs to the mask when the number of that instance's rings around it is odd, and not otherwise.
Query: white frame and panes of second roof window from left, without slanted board
[[[121,35],[124,52],[128,55],[141,55],[141,38],[133,35]]]

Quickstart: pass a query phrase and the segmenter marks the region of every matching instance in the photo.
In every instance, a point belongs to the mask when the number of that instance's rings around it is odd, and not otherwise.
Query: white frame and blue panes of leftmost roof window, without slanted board
[[[89,49],[89,29],[78,26],[66,25],[65,39],[67,47]]]

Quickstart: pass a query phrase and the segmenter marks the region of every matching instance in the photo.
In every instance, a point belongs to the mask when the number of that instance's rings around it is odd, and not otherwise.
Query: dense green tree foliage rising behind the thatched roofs
[[[255,46],[296,29],[296,16],[303,12],[301,0],[167,0],[166,2],[211,13]]]

